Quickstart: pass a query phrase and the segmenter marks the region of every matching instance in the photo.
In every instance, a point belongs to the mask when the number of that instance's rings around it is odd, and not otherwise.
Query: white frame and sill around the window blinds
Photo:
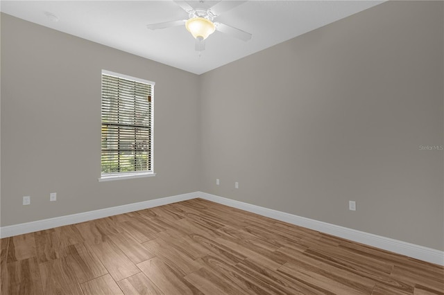
[[[131,80],[139,83],[144,84],[151,84],[151,122],[150,122],[150,132],[151,132],[151,138],[149,141],[149,145],[151,148],[151,153],[149,154],[150,162],[151,162],[151,170],[142,170],[142,171],[128,171],[128,172],[102,172],[101,168],[101,176],[99,177],[99,181],[112,181],[117,179],[133,179],[133,178],[139,178],[139,177],[153,177],[155,176],[154,172],[154,86],[155,82],[144,80],[141,78],[135,78],[130,75],[124,75],[121,73],[114,73],[112,71],[103,70],[101,71],[101,86],[103,84],[103,75],[111,75],[116,78],[121,78],[125,80]],[[101,105],[103,103],[103,91],[101,90]],[[102,109],[102,107],[101,107]],[[101,138],[102,138],[102,110],[101,110]],[[101,145],[101,154],[102,154],[102,145]],[[102,157],[100,166],[102,167]]]

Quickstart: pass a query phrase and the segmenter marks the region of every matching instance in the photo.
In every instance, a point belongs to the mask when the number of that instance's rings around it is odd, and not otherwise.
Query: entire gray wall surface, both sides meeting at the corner
[[[2,15],[1,226],[203,190],[444,250],[443,25],[383,3],[196,76]],[[156,82],[156,177],[97,181],[101,69]]]

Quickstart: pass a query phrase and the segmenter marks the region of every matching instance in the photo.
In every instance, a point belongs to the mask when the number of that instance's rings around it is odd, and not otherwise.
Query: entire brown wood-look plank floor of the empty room
[[[444,294],[444,269],[203,199],[1,242],[1,294]]]

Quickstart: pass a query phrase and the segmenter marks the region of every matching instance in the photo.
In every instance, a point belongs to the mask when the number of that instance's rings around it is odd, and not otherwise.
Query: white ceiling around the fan
[[[205,40],[206,48],[200,57],[194,50],[194,38],[185,26],[160,30],[146,28],[147,24],[187,19],[187,12],[173,1],[2,0],[0,10],[35,24],[200,74],[382,2],[246,1],[221,13],[215,21],[251,33],[253,38],[244,42],[216,31]],[[196,3],[191,4],[196,6]],[[58,21],[51,21],[45,12],[56,15]]]

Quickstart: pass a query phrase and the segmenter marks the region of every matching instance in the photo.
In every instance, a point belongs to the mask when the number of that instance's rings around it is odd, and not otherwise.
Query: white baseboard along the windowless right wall
[[[436,265],[444,265],[444,251],[422,247],[417,244],[411,244],[408,242],[402,242],[400,240],[394,240],[391,238],[385,238],[380,235],[374,235],[372,233],[365,233],[364,231],[357,231],[355,229],[348,229],[343,226],[329,224],[327,222],[320,222],[318,220],[311,220],[306,217],[300,217],[273,209],[268,209],[244,202],[235,201],[233,199],[227,199],[208,193],[199,192],[198,195],[202,199],[216,202],[233,208],[238,208],[251,213],[256,213],[266,217],[288,222],[298,226],[305,227],[307,229],[313,229],[314,231],[320,231],[321,233],[328,233],[339,238],[352,240],[369,246],[391,251],[411,258],[434,263]]]

